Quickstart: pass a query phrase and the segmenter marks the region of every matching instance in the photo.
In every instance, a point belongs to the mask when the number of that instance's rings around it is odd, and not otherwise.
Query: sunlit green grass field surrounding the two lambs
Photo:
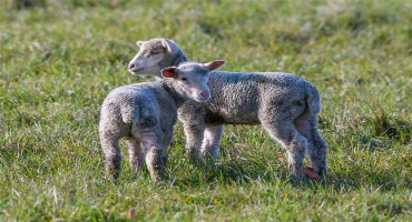
[[[411,220],[412,1],[0,2],[0,221]],[[127,64],[137,40],[157,37],[222,70],[312,82],[326,184],[292,182],[258,125],[227,125],[216,168],[197,168],[180,123],[164,184],[127,161],[106,180],[100,105],[154,80]]]

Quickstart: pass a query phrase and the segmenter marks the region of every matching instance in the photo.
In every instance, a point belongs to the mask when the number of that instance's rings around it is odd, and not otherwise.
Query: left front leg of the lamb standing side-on
[[[205,127],[185,124],[184,129],[186,134],[186,157],[196,161],[200,158]]]

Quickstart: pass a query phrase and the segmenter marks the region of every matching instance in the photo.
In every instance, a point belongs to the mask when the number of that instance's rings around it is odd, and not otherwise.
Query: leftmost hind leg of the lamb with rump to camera
[[[100,144],[106,157],[106,174],[118,179],[121,171],[121,153],[118,137],[107,137],[100,133]]]

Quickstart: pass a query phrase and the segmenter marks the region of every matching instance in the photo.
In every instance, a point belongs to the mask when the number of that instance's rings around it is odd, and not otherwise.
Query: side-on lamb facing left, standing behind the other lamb
[[[170,40],[139,41],[141,50],[130,61],[129,68],[138,64],[139,70],[146,70],[145,63],[148,63],[151,74],[156,74],[163,68],[161,63],[145,56],[145,51],[160,46],[160,42],[166,47],[156,51],[169,53],[167,49],[173,48],[179,52],[176,53],[176,61],[182,58],[182,50]],[[133,74],[150,74],[139,70],[129,71]],[[188,101],[178,109],[186,134],[187,155],[197,158],[202,154],[215,160],[224,124],[262,124],[273,139],[286,148],[293,174],[302,175],[307,151],[317,179],[324,180],[327,144],[317,130],[321,97],[314,85],[288,73],[225,71],[210,72],[208,85],[213,98],[207,103]]]

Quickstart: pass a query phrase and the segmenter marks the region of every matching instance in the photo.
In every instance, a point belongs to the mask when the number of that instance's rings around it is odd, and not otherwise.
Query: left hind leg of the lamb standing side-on
[[[292,120],[263,121],[262,125],[277,142],[287,149],[288,168],[292,173],[302,175],[302,164],[307,150],[307,141],[296,131]]]

